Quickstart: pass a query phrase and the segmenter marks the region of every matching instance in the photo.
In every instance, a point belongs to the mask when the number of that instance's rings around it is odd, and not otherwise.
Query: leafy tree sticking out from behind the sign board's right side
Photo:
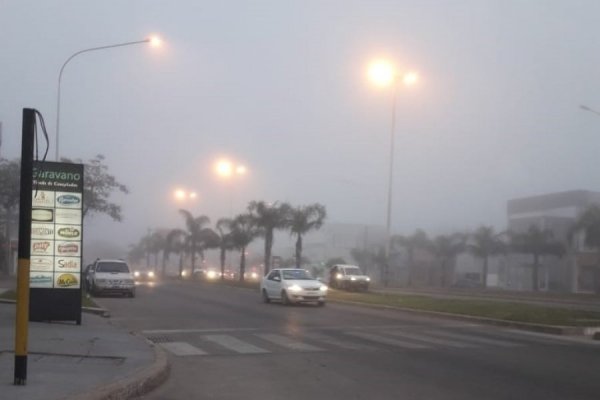
[[[68,158],[63,158],[61,161],[72,162]],[[83,217],[94,213],[106,214],[114,221],[120,222],[123,219],[121,206],[111,202],[110,197],[115,192],[128,194],[127,186],[119,183],[109,173],[102,154],[98,154],[88,162],[81,160],[76,160],[76,162],[84,164]]]

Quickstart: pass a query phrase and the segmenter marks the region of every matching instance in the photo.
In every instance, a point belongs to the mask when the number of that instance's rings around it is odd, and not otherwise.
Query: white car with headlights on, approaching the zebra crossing
[[[310,272],[299,268],[276,268],[260,283],[265,303],[279,300],[282,304],[317,303],[325,305],[327,286],[316,280]]]

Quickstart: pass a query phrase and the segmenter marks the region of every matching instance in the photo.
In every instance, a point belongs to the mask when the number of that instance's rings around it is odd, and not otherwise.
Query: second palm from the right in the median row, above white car
[[[252,201],[248,211],[254,224],[265,237],[265,274],[271,269],[271,250],[273,248],[273,232],[284,229],[288,224],[288,216],[292,207],[288,203],[269,204],[264,201]]]

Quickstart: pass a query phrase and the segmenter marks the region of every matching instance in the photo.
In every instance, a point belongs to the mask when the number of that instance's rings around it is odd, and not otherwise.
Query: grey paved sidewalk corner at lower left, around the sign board
[[[0,280],[0,292],[11,288]],[[13,385],[14,303],[0,303],[2,400],[126,399],[148,392],[168,376],[166,354],[145,339],[83,313],[74,322],[30,322],[27,384]]]

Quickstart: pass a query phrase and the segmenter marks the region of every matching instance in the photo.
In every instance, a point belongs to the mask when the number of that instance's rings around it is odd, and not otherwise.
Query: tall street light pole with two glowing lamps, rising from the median
[[[392,230],[392,194],[393,194],[393,177],[394,177],[394,149],[396,136],[396,108],[398,102],[398,91],[400,84],[412,85],[417,81],[417,75],[414,72],[398,73],[394,66],[386,60],[377,60],[371,63],[368,70],[370,80],[381,87],[392,88],[392,124],[390,128],[390,156],[389,156],[389,171],[388,171],[388,193],[387,193],[387,213],[386,213],[386,241],[385,241],[385,258],[386,270],[384,284],[387,284],[387,274],[390,257],[390,241]]]

